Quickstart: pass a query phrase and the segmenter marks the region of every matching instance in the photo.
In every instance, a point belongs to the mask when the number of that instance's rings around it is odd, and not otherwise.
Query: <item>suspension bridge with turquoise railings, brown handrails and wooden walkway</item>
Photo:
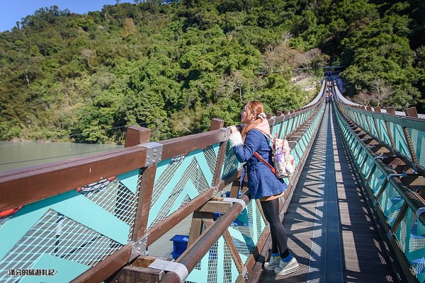
[[[335,94],[332,103],[325,90]],[[263,270],[271,238],[229,129],[0,173],[0,282],[425,281],[425,120],[364,107],[336,81],[303,108],[268,115],[290,142],[280,216],[300,269]],[[191,218],[176,258],[149,247]]]

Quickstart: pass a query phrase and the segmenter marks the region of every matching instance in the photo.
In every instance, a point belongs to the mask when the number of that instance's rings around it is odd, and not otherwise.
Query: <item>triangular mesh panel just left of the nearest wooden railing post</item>
[[[81,187],[80,191],[81,195],[89,198],[89,200],[98,204],[99,207],[117,216],[118,219],[130,226],[128,234],[129,241],[135,223],[141,178],[142,174],[139,173],[137,178],[137,191],[135,194],[128,190],[128,188],[120,183],[115,177]]]

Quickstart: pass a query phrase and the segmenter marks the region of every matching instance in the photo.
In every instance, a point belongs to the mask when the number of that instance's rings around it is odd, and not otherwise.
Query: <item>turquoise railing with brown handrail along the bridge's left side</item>
[[[273,134],[290,137],[295,133],[290,146],[298,173],[322,119],[323,89],[324,86],[314,104],[269,119]],[[93,156],[84,158],[78,166],[72,162],[52,163],[51,167],[47,164],[33,171],[0,174],[1,206],[23,205],[16,214],[0,219],[0,282],[96,282],[111,275],[111,268],[122,267],[123,258],[130,262],[137,255],[143,255],[139,253],[140,248],[147,248],[149,238],[157,236],[152,231],[161,230],[158,227],[164,223],[170,227],[175,225],[170,223],[179,212],[195,211],[204,203],[198,200],[215,197],[212,193],[220,189],[220,182],[235,178],[240,171],[242,165],[226,146],[228,134],[229,129],[222,128],[212,134],[193,135],[194,141],[188,142],[189,145],[181,138],[170,139],[111,151],[103,157],[104,161]],[[220,154],[222,146],[225,146],[225,154]],[[117,168],[113,163],[121,154],[128,162],[121,162],[123,168]],[[166,157],[152,162],[152,156],[161,154]],[[96,168],[91,166],[95,163]],[[69,184],[81,183],[75,180],[80,174],[74,172],[77,168],[84,168],[81,179],[91,181],[81,187],[72,187]],[[104,168],[113,170],[103,172]],[[217,170],[218,182],[215,180]],[[35,175],[28,177],[29,172]],[[47,178],[55,176],[55,182],[47,180],[45,183],[52,191],[46,193],[47,197],[36,201],[28,197],[21,203],[16,195],[7,192],[12,186],[18,188],[19,194],[25,194],[22,187],[28,187],[30,194],[28,180],[43,180],[37,172]],[[286,179],[290,187],[296,180],[297,173]],[[43,182],[34,186],[36,190],[43,190]],[[56,182],[66,187],[55,188]],[[152,184],[150,193],[149,184]],[[11,199],[10,203],[6,198]],[[188,275],[188,282],[236,282],[244,277],[241,266],[245,265],[246,269],[246,262],[252,260],[259,239],[268,235],[256,202],[251,201],[244,207],[228,232],[233,243],[221,236]],[[108,265],[109,270],[103,265]],[[103,269],[106,270],[104,274]],[[90,275],[84,277],[85,274]]]

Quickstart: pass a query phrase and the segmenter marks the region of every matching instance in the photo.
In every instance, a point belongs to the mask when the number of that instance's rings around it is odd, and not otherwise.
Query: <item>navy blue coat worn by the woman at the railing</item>
[[[244,144],[235,145],[233,150],[239,162],[246,162],[248,188],[253,199],[278,195],[288,188],[284,180],[276,178],[270,168],[254,156],[256,151],[273,165],[269,141],[258,129],[251,129],[246,134]]]

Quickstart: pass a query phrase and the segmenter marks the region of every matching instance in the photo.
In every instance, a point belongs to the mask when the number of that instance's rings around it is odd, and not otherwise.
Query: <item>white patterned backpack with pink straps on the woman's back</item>
[[[266,164],[277,178],[290,178],[295,171],[295,158],[290,154],[288,141],[286,139],[278,139],[277,133],[274,139],[271,139],[271,137],[268,137],[266,134],[264,134],[264,136],[273,144],[273,146],[271,146],[271,158],[274,166],[271,166],[266,159],[262,158],[257,152],[254,152],[254,156]]]

